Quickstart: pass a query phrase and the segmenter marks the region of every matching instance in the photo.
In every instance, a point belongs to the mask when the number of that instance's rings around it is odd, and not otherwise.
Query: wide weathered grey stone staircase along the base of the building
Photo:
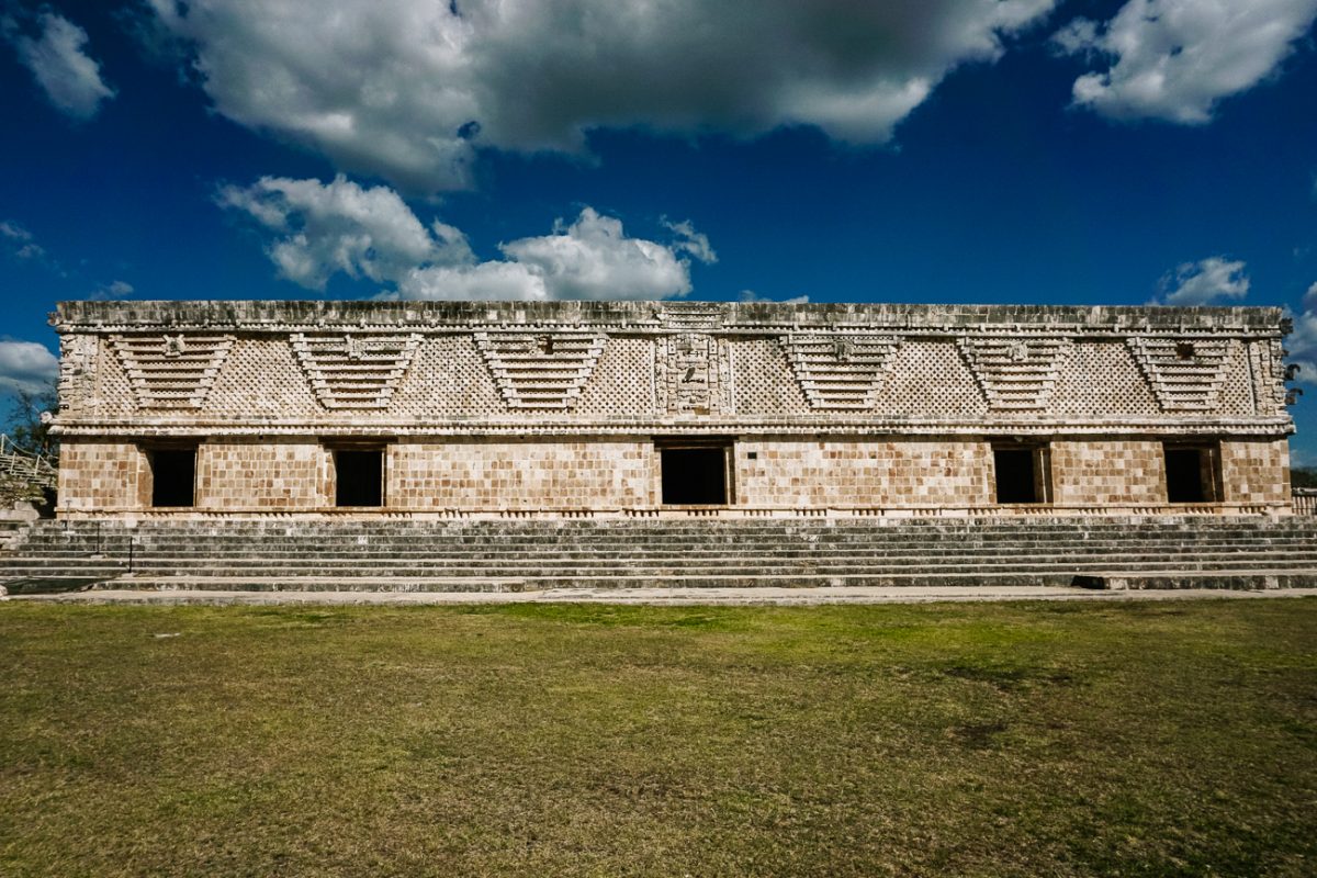
[[[34,523],[13,594],[55,588],[1317,587],[1317,517]]]

